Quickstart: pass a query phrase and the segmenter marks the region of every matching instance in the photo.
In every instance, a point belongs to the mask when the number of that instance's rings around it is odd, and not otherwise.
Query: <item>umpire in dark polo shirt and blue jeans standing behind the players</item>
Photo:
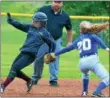
[[[43,12],[47,15],[48,21],[47,21],[47,29],[53,36],[56,42],[56,49],[55,51],[58,51],[62,47],[62,34],[63,34],[63,28],[65,27],[67,30],[67,45],[70,45],[72,42],[72,25],[69,16],[64,12],[61,8],[63,6],[63,1],[54,0],[52,1],[52,4],[50,6],[44,6],[39,9],[40,12]],[[41,49],[40,49],[41,50]],[[42,51],[46,52],[48,49],[45,45],[42,46]],[[44,53],[45,54],[45,53]],[[41,63],[39,65],[39,62],[37,60],[34,63],[34,74],[33,78],[36,78],[37,80],[41,77],[42,70],[39,70],[39,67],[42,67],[43,69],[43,60],[41,60]],[[50,71],[50,85],[51,86],[58,86],[57,80],[58,80],[58,72],[59,72],[59,56],[57,56],[56,61],[50,63],[49,65],[49,71]]]

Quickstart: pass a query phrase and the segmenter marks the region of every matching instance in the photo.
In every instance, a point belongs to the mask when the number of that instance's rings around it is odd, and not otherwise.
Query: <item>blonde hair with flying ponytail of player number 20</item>
[[[88,21],[82,21],[80,23],[80,32],[90,32],[90,33],[99,33],[104,31],[109,26],[109,23],[102,23],[102,24],[91,24]]]

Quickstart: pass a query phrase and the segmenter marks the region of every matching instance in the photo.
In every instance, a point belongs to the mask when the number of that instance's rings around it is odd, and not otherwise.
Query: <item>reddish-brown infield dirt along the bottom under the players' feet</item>
[[[89,94],[91,96],[93,90],[97,87],[97,84],[100,81],[91,80],[89,86]],[[58,87],[51,87],[47,79],[41,79],[38,85],[33,86],[32,90],[29,93],[26,93],[26,83],[23,80],[15,79],[5,90],[4,94],[1,94],[2,97],[80,97],[82,86],[81,80],[69,80],[69,79],[60,79],[58,81]],[[103,93],[106,96],[110,96],[110,88],[106,88]]]

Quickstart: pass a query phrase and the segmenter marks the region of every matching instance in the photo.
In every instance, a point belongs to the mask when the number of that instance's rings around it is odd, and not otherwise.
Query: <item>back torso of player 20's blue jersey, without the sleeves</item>
[[[85,33],[77,39],[77,48],[80,51],[80,57],[97,53],[97,42],[93,36],[94,34]]]

